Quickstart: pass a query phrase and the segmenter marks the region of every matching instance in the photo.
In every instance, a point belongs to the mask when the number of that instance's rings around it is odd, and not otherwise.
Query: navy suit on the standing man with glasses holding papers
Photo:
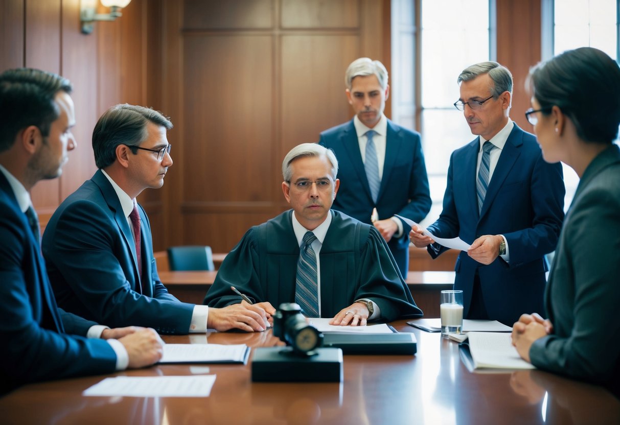
[[[502,234],[510,263],[498,257],[490,265],[461,252],[456,260],[454,289],[463,290],[464,317],[479,274],[489,317],[512,325],[525,312],[542,311],[547,263],[556,248],[564,219],[564,180],[560,164],[547,164],[533,134],[514,126],[489,182],[482,211],[476,197],[479,138],[450,157],[443,211],[428,230],[441,238],[461,237],[472,243],[482,235]],[[433,258],[438,253],[431,246]]]

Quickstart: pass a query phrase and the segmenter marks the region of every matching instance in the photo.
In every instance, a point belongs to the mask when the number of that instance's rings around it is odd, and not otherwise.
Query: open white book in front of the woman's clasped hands
[[[467,339],[476,368],[536,369],[531,363],[521,359],[508,333],[470,332]]]

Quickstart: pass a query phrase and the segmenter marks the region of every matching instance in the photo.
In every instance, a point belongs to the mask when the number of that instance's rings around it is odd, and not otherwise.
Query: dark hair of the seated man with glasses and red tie
[[[92,131],[92,150],[97,168],[104,169],[116,160],[116,148],[120,144],[131,147],[135,154],[148,136],[147,123],[172,128],[169,118],[153,108],[136,105],[115,105],[104,112]]]

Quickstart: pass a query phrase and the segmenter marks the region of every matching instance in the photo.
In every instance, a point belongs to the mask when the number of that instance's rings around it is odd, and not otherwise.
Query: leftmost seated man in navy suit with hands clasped
[[[29,192],[58,177],[76,146],[70,93],[67,79],[38,69],[0,75],[0,395],[38,380],[148,366],[162,355],[152,329],[110,329],[56,306]]]

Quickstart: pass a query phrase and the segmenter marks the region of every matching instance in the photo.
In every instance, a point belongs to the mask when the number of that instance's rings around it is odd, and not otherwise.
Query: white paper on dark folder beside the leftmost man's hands
[[[246,344],[164,344],[160,363],[242,363],[246,358]]]

